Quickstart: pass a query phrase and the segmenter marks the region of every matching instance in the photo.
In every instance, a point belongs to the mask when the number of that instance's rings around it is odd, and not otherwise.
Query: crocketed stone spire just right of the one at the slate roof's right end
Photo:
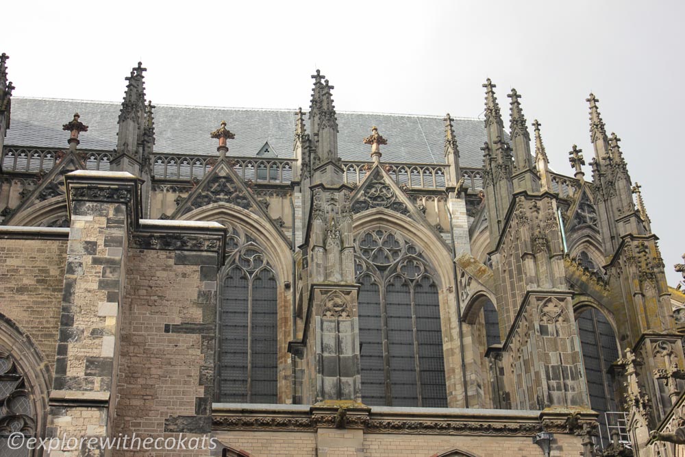
[[[514,149],[514,192],[527,190],[529,193],[537,193],[540,190],[540,181],[534,173],[533,158],[530,153],[530,134],[525,123],[525,116],[521,110],[521,96],[516,89],[507,95],[511,99],[511,140]],[[524,179],[522,180],[521,177]]]

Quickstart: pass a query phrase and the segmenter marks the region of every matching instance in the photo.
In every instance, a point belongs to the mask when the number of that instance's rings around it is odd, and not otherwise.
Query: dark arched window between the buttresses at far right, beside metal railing
[[[590,407],[599,412],[599,422],[606,425],[604,413],[620,410],[611,372],[611,364],[619,358],[616,336],[606,316],[595,308],[586,308],[577,314],[575,321],[580,336]]]

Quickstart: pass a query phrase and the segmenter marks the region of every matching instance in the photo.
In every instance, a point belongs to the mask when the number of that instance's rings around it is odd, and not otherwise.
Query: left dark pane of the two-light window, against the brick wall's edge
[[[221,306],[221,401],[247,402],[249,281],[238,267],[223,281]]]

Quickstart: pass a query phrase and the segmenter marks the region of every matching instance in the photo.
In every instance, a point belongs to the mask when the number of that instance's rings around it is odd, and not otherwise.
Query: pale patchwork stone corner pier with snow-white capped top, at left
[[[140,180],[100,171],[75,171],[65,180],[71,231],[48,433],[97,439],[111,434],[119,304],[127,240],[139,219]],[[63,455],[103,455],[90,447]]]

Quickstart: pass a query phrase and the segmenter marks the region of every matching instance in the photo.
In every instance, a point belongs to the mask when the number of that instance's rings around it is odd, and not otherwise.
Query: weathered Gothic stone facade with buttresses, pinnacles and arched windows
[[[575,146],[574,177],[549,170],[537,121],[533,153],[514,89],[504,129],[489,79],[484,142],[447,114],[442,164],[386,161],[412,135],[384,115],[395,136],[365,126],[346,161],[319,71],[292,158],[273,133],[230,156],[264,127],[230,122],[216,153],[155,152],[140,63],[114,152],[79,149],[78,114],[69,149],[8,143],[6,60],[0,451],[21,430],[213,443],[146,456],[681,452],[685,299],[594,95],[589,182]],[[129,455],[105,447],[51,455]]]

